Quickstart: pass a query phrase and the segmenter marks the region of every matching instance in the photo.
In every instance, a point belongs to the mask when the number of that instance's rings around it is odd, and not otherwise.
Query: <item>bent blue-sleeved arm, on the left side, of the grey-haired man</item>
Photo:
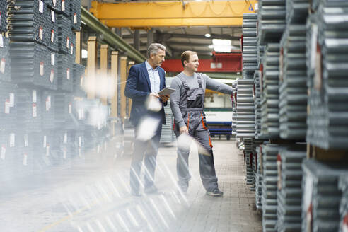
[[[134,66],[132,66],[129,69],[129,75],[126,83],[126,88],[124,89],[124,95],[126,95],[127,98],[132,98],[132,100],[135,101],[145,101],[150,93],[139,91],[137,89],[138,79],[139,74],[137,73],[137,70],[134,69]]]

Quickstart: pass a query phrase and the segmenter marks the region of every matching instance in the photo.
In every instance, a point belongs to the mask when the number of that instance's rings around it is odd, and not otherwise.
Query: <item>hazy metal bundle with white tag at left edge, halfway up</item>
[[[0,130],[11,131],[16,126],[18,111],[17,86],[13,83],[0,81]]]

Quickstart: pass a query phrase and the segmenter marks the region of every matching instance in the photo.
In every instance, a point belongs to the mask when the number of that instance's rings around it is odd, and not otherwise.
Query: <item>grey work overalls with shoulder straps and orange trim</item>
[[[205,120],[204,109],[204,89],[202,88],[202,76],[197,74],[198,88],[190,89],[187,86],[185,78],[180,78],[184,91],[180,93],[179,108],[182,114],[182,118],[187,126],[191,137],[197,140],[197,142],[208,151],[210,156],[202,155],[199,153],[199,173],[201,175],[202,183],[207,192],[215,190],[217,185],[217,178],[214,167],[214,156],[211,145],[211,138],[209,129],[207,127],[207,121]],[[175,136],[180,136],[180,128],[178,124],[174,124]],[[177,159],[177,173],[179,178],[179,186],[183,192],[187,191],[188,182],[191,179],[188,157],[190,148],[182,149],[178,148]]]

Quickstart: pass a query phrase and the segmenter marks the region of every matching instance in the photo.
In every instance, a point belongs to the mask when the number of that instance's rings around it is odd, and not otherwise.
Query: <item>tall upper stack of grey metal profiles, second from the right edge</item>
[[[306,25],[288,24],[279,59],[279,124],[282,139],[305,139],[307,117]]]

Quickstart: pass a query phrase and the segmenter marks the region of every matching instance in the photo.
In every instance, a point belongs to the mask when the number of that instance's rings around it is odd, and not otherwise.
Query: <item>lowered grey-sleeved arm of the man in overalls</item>
[[[179,125],[179,127],[185,127],[185,122],[182,119],[181,110],[179,108],[180,103],[180,88],[181,81],[178,78],[174,78],[172,83],[170,84],[170,88],[174,88],[175,92],[170,94],[170,108],[172,109],[175,123]]]

